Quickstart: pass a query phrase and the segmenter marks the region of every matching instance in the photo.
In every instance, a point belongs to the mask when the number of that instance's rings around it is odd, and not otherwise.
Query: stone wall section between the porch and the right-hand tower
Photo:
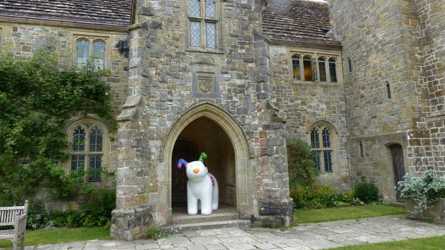
[[[295,81],[291,77],[291,51],[302,51],[318,56],[337,56],[337,83],[320,81]],[[322,174],[318,183],[329,184],[337,190],[350,188],[348,165],[348,129],[343,90],[343,68],[341,49],[316,47],[270,47],[273,72],[273,97],[275,106],[286,119],[286,136],[300,138],[310,144],[310,129],[316,122],[323,121],[334,128],[334,172]]]

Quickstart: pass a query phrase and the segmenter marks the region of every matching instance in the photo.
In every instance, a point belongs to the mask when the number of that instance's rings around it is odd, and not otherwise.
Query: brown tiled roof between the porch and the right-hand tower
[[[329,10],[323,1],[268,0],[263,32],[272,42],[337,45],[329,35]]]

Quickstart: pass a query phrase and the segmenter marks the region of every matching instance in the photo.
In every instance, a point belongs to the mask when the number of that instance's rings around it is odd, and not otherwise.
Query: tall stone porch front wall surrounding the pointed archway
[[[240,217],[285,213],[291,219],[285,120],[270,101],[270,56],[259,22],[264,1],[216,2],[217,49],[188,47],[188,1],[138,3],[130,32],[129,98],[118,117],[113,217],[130,218],[127,210],[149,204],[149,224],[171,224],[172,147],[187,124],[204,116],[234,145]],[[113,224],[112,235],[138,238],[149,224]]]

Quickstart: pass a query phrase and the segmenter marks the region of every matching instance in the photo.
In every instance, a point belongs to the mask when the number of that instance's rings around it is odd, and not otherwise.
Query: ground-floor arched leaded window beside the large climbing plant
[[[72,126],[69,132],[71,171],[87,173],[90,182],[102,181],[104,130],[97,124],[84,122]]]

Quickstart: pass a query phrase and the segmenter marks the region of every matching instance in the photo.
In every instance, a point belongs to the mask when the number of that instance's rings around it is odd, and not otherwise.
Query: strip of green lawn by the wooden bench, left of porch
[[[25,245],[56,244],[86,240],[111,240],[110,228],[58,228],[54,230],[26,230]],[[10,240],[0,240],[0,247],[13,247]]]

